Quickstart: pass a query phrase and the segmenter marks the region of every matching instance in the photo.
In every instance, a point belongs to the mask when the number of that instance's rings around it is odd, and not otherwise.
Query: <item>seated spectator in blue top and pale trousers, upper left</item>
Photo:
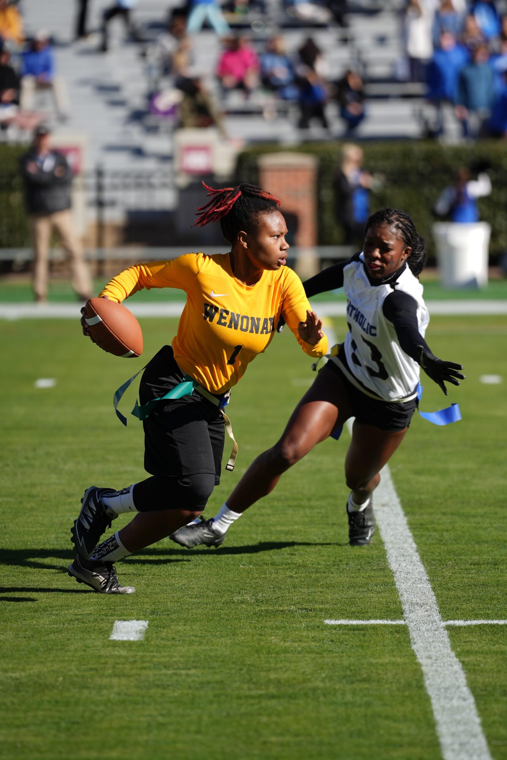
[[[52,47],[49,33],[36,33],[30,46],[21,56],[21,108],[33,111],[33,96],[36,90],[52,90],[59,119],[68,118],[68,96],[65,82],[55,75]]]

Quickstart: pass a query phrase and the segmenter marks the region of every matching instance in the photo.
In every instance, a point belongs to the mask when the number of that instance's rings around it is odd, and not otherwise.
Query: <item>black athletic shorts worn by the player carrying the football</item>
[[[182,382],[173,349],[164,346],[147,364],[139,385],[146,404]],[[144,469],[151,475],[185,477],[213,473],[220,483],[224,420],[218,407],[198,394],[160,401],[143,422]]]

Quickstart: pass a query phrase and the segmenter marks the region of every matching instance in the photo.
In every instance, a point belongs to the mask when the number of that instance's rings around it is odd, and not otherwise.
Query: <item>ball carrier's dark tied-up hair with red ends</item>
[[[234,244],[240,230],[250,232],[256,225],[258,214],[265,211],[277,211],[281,201],[257,185],[242,183],[236,188],[214,190],[204,182],[211,200],[198,207],[197,219],[192,224],[204,227],[210,222],[220,222],[223,237]]]

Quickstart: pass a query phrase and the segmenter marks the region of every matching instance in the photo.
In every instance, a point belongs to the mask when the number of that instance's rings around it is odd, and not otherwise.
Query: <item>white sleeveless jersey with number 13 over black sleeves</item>
[[[362,253],[359,259],[344,268],[349,331],[342,350],[347,357],[347,376],[362,391],[383,401],[410,401],[416,396],[420,366],[401,349],[394,326],[384,316],[382,306],[393,288],[390,284],[370,285]],[[429,314],[423,286],[408,267],[396,280],[395,290],[417,302],[417,323],[424,337]],[[339,361],[338,366],[342,367]]]

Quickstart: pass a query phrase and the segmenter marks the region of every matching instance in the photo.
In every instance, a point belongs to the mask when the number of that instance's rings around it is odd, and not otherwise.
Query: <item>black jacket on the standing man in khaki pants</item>
[[[62,154],[52,151],[52,156],[55,164],[51,171],[45,172],[36,164],[37,170],[34,173],[27,169],[30,162],[36,163],[33,149],[21,157],[21,175],[29,214],[55,214],[56,211],[65,211],[71,207],[71,168]],[[55,173],[59,167],[64,170],[62,176]]]

